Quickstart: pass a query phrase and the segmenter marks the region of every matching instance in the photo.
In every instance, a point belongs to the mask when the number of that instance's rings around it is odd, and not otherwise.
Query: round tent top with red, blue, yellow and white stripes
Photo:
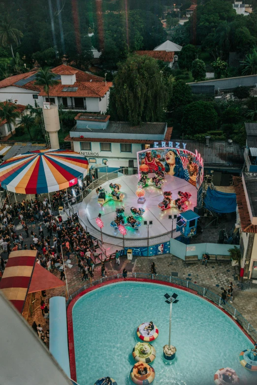
[[[74,151],[32,151],[0,165],[0,186],[20,194],[51,193],[77,184],[87,169],[88,160]]]

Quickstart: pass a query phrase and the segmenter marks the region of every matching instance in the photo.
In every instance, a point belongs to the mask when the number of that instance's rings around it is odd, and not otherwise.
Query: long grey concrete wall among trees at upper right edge
[[[202,82],[187,83],[190,86],[215,86],[215,90],[229,90],[239,86],[251,87],[257,83],[257,75],[230,77],[226,79],[204,80]]]

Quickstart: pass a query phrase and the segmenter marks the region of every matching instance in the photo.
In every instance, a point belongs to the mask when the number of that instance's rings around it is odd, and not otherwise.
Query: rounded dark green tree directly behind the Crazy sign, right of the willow
[[[184,108],[182,128],[186,135],[195,135],[215,130],[218,127],[218,114],[213,103],[193,101]]]

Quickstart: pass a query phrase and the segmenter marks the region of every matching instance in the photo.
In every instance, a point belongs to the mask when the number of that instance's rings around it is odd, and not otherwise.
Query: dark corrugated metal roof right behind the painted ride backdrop
[[[175,141],[173,139],[173,142]],[[181,141],[181,139],[178,139],[178,141]],[[210,141],[210,146],[194,140],[183,140],[183,143],[187,143],[187,150],[193,153],[197,150],[201,154],[204,165],[241,167],[244,164],[244,149],[237,143],[228,144],[226,141]]]

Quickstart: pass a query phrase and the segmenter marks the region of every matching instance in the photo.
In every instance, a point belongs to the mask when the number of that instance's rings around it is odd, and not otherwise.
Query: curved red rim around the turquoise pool
[[[252,342],[252,344],[254,344],[254,340],[249,336],[249,334],[246,332],[246,330],[235,320],[233,319],[233,317],[228,314],[225,309],[221,308],[219,305],[217,305],[216,303],[212,302],[211,300],[209,300],[208,298],[206,297],[203,297],[202,295],[199,295],[197,293],[197,291],[195,290],[192,290],[192,289],[189,289],[189,288],[185,288],[184,286],[180,286],[180,285],[177,285],[177,284],[172,284],[172,283],[169,283],[169,282],[163,282],[163,281],[158,281],[158,280],[151,280],[151,279],[146,279],[146,278],[119,278],[119,279],[114,279],[114,280],[111,280],[111,281],[108,281],[108,282],[103,282],[101,284],[98,284],[96,286],[93,286],[92,288],[89,288],[89,289],[85,289],[84,291],[82,291],[81,293],[79,293],[78,295],[76,295],[75,298],[73,298],[68,307],[67,307],[67,332],[68,332],[68,352],[69,352],[69,365],[70,365],[70,378],[74,381],[77,381],[77,374],[76,374],[76,361],[75,361],[75,349],[74,349],[74,333],[73,333],[73,321],[72,321],[72,309],[73,309],[73,306],[75,305],[75,303],[77,302],[77,300],[82,297],[84,294],[87,294],[88,292],[90,291],[93,291],[95,289],[98,289],[100,287],[103,287],[103,286],[106,286],[106,285],[110,285],[110,284],[114,284],[116,282],[146,282],[146,283],[151,283],[151,284],[158,284],[158,285],[163,285],[163,286],[169,286],[169,287],[173,287],[173,288],[177,288],[177,289],[181,289],[181,290],[185,290],[185,291],[188,291],[194,295],[197,295],[198,297],[200,298],[203,298],[205,299],[206,301],[210,302],[212,305],[216,306],[218,309],[220,309],[221,311],[223,311],[223,313],[225,313],[232,321],[234,321],[236,323],[236,325],[243,331],[243,333],[249,338],[249,340]]]

